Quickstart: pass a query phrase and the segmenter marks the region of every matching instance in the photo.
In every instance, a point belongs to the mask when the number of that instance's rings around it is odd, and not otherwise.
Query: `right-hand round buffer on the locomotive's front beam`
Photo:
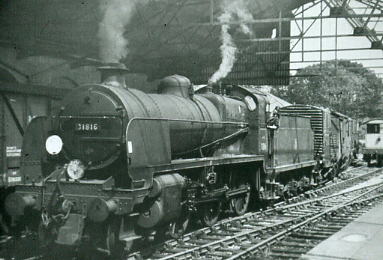
[[[89,206],[88,218],[93,222],[105,221],[110,213],[117,210],[117,202],[115,200],[94,199]]]

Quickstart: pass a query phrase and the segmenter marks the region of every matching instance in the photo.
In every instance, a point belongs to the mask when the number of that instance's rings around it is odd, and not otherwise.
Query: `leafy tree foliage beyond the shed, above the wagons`
[[[272,92],[291,103],[329,107],[353,118],[382,116],[383,81],[362,64],[348,60],[308,66],[289,86]]]

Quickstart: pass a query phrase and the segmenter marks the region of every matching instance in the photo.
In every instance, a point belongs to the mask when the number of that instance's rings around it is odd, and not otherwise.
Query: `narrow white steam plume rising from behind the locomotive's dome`
[[[239,21],[252,21],[253,15],[248,11],[245,0],[226,0],[222,4],[223,13],[218,17],[221,25],[221,40],[220,47],[222,61],[218,70],[211,76],[209,83],[216,83],[220,79],[225,78],[232,70],[236,54],[238,52],[232,36],[230,35],[229,23],[237,18]],[[236,16],[236,17],[235,17]],[[240,24],[241,31],[246,35],[253,35],[253,31],[247,24]]]

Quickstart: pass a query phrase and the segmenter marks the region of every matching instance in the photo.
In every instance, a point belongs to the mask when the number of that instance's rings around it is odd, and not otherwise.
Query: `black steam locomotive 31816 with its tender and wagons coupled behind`
[[[191,216],[211,226],[309,189],[351,158],[353,121],[329,109],[272,114],[254,88],[195,88],[179,75],[146,94],[126,86],[123,66],[100,70],[101,84],[76,88],[25,132],[23,183],[5,207],[43,244],[86,240],[119,255],[164,230],[180,236]]]

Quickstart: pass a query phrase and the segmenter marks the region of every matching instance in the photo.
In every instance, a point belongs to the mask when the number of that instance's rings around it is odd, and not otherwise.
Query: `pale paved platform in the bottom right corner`
[[[311,249],[304,260],[382,260],[383,203]]]

